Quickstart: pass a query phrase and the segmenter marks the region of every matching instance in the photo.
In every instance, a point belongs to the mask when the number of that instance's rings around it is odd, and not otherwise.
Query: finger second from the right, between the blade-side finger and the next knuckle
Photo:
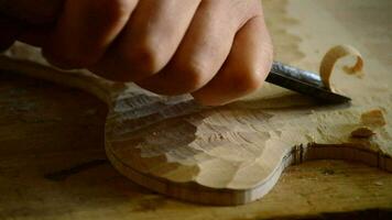
[[[199,89],[225,63],[237,30],[250,15],[248,1],[202,1],[172,61],[161,73],[138,85],[164,95]]]

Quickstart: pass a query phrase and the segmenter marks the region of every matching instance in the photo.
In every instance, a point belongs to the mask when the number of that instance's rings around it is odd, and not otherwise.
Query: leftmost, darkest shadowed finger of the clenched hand
[[[95,64],[127,24],[137,0],[67,0],[44,56],[64,68]]]

